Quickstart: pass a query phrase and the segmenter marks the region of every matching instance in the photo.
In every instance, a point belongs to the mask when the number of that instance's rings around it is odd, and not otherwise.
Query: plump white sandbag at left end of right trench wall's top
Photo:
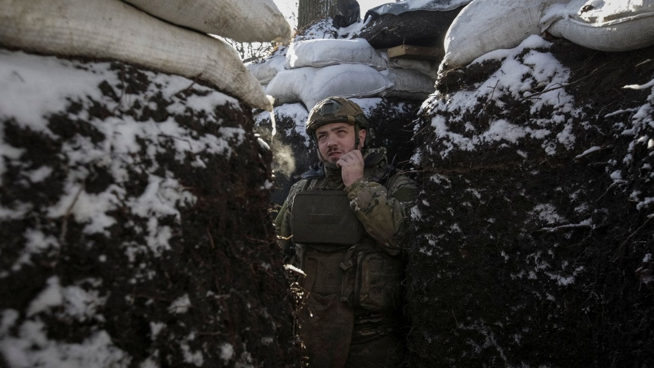
[[[487,52],[513,48],[529,35],[540,35],[543,9],[559,1],[471,1],[445,33],[445,57],[441,64],[467,65]]]

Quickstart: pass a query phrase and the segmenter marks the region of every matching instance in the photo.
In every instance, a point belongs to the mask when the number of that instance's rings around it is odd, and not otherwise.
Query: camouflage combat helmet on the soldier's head
[[[347,98],[329,97],[311,109],[307,119],[307,135],[315,139],[316,129],[331,122],[347,122],[358,129],[368,129],[370,126],[359,105]]]

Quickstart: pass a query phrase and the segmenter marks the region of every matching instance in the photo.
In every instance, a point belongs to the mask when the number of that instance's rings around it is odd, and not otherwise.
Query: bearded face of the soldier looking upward
[[[366,131],[359,130],[359,147],[354,147],[354,126],[347,122],[331,122],[316,130],[318,151],[327,162],[336,164],[341,156],[353,149],[360,149],[366,139]]]

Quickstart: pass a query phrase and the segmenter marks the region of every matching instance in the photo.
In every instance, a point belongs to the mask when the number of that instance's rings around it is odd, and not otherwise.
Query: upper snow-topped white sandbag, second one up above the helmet
[[[311,39],[291,43],[286,68],[363,64],[386,69],[387,62],[365,39]]]

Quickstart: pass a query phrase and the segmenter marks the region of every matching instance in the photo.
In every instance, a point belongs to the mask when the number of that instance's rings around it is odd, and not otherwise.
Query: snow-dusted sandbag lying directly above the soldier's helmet
[[[275,103],[301,101],[310,110],[330,96],[371,97],[392,86],[387,77],[372,67],[342,64],[284,69],[270,81],[266,94],[273,96]]]

